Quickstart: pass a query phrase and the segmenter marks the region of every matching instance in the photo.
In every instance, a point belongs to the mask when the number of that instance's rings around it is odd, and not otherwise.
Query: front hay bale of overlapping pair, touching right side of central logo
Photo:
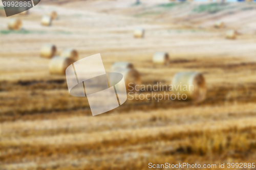
[[[120,74],[123,75],[127,93],[129,93],[131,91],[136,91],[135,90],[136,85],[137,85],[136,89],[137,90],[140,89],[141,78],[140,78],[139,72],[136,69],[134,69],[134,68],[123,68],[123,69],[118,68],[118,69],[114,70],[113,72],[119,72]],[[122,90],[123,84],[119,84],[119,85],[120,85],[119,89]],[[116,86],[116,88],[118,88],[118,86]]]

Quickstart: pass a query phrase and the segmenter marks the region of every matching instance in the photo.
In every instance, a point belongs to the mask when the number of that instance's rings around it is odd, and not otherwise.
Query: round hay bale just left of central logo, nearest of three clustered
[[[53,57],[49,64],[51,75],[65,75],[67,67],[71,64],[71,60],[66,57]]]

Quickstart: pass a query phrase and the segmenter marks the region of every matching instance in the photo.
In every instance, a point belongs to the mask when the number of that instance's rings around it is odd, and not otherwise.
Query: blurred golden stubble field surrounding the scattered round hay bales
[[[148,163],[253,163],[256,151],[256,4],[254,2],[49,1],[6,17],[0,6],[0,169],[148,169]],[[52,11],[50,27],[41,25]],[[8,29],[12,18],[21,29]],[[217,21],[223,27],[215,28]],[[143,38],[134,38],[142,28]],[[227,30],[238,32],[226,39]],[[127,100],[92,116],[88,100],[69,94],[51,59],[74,48],[101,54],[106,71],[130,62],[142,84],[170,84],[197,71],[206,99]],[[155,66],[156,52],[169,55]],[[148,92],[151,93],[151,92]]]

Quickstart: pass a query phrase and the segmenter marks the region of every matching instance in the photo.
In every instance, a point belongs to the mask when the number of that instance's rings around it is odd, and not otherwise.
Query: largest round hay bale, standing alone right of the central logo
[[[176,95],[176,100],[204,101],[206,85],[203,75],[198,72],[178,72],[172,80],[172,94]]]

